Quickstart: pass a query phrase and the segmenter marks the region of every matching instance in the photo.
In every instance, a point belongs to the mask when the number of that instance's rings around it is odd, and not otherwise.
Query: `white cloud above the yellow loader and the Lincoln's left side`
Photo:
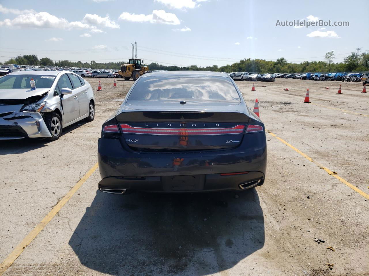
[[[127,12],[122,13],[120,20],[127,20],[131,22],[150,22],[150,23],[162,23],[169,25],[179,25],[180,21],[174,13],[166,13],[164,10],[153,10],[151,14],[130,14]]]

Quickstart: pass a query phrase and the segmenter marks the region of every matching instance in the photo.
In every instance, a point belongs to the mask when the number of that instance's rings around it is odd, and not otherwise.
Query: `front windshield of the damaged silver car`
[[[0,78],[0,89],[31,88],[31,78],[36,82],[36,88],[51,88],[56,76],[48,75],[5,75]]]

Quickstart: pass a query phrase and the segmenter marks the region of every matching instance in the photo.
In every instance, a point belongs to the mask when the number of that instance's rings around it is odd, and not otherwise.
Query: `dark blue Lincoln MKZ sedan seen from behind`
[[[100,191],[241,191],[262,185],[266,137],[225,74],[169,71],[137,79],[102,126]]]

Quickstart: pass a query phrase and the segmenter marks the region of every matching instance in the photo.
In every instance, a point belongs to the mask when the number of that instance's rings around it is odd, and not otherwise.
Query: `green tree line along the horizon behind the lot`
[[[86,67],[96,69],[120,69],[121,64],[127,61],[97,63],[92,60],[83,63],[82,61],[59,60],[52,61],[48,57],[38,59],[37,55],[17,56],[14,59],[6,61],[5,64],[18,65],[37,65],[37,66],[60,66],[60,67]],[[357,54],[352,52],[344,58],[343,62],[334,63],[334,52],[328,52],[325,55],[325,60],[321,61],[303,61],[301,63],[288,62],[283,57],[276,61],[264,59],[243,59],[231,65],[218,67],[217,65],[200,67],[197,65],[191,66],[166,66],[156,62],[147,64],[149,70],[200,70],[200,71],[218,71],[218,72],[259,72],[259,73],[295,73],[295,72],[355,72],[369,71],[369,53]]]

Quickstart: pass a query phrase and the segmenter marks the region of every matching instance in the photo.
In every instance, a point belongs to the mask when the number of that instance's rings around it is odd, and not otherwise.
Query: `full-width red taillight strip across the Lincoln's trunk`
[[[236,125],[230,128],[145,128],[121,124],[120,127],[123,133],[188,136],[242,134],[244,133],[245,125]]]

